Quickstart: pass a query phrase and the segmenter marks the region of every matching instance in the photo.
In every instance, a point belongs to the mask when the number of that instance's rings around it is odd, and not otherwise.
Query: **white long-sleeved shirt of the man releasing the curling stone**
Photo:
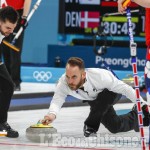
[[[71,90],[66,82],[65,74],[63,74],[57,84],[55,94],[49,107],[49,113],[57,115],[67,95],[71,95],[80,100],[92,101],[95,100],[98,93],[102,92],[104,89],[122,94],[131,101],[136,102],[135,90],[123,81],[118,80],[110,71],[105,69],[86,69],[86,81],[83,87],[84,91],[80,89],[76,91]],[[142,99],[142,97],[140,99]]]

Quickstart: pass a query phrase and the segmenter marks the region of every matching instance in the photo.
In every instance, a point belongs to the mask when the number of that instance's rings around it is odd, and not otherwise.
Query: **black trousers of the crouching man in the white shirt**
[[[117,115],[113,104],[119,100],[118,94],[105,89],[98,94],[96,100],[89,101],[90,113],[85,120],[85,125],[98,131],[102,123],[110,132],[125,132],[138,125],[137,113],[131,111],[125,115]]]

